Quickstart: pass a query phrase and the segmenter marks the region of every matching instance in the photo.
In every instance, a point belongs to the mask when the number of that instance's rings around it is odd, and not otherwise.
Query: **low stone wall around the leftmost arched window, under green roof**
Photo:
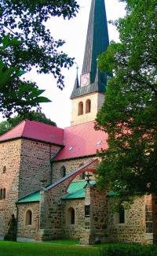
[[[31,210],[32,213],[32,224],[27,225],[26,223],[26,213],[27,210]],[[18,237],[35,238],[36,232],[39,228],[39,203],[29,202],[29,203],[19,203],[18,204]]]

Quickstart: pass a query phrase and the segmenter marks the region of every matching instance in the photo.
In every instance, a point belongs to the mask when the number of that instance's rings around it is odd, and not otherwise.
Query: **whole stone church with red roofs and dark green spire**
[[[71,92],[71,126],[22,121],[0,137],[0,239],[14,215],[19,239],[155,242],[152,195],[113,213],[114,193],[97,188],[97,150],[108,148],[108,134],[95,131],[94,120],[109,76],[97,69],[97,57],[108,44],[104,0],[92,0],[82,75]]]

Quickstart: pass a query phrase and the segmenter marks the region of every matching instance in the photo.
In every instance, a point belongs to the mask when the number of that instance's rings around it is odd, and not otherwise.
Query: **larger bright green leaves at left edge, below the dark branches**
[[[20,45],[17,38],[10,39],[5,35],[0,40],[0,54],[5,54],[9,46]],[[39,90],[35,83],[20,80],[25,71],[20,66],[11,66],[0,59],[0,112],[5,117],[10,117],[13,112],[21,113],[38,107],[39,102],[49,102],[48,98],[42,97],[44,90]]]

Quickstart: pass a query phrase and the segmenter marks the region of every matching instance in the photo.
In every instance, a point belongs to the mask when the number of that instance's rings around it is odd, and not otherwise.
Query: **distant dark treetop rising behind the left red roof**
[[[19,124],[24,119],[57,126],[55,122],[51,121],[49,118],[46,117],[45,113],[30,111],[28,113],[23,113],[13,118],[9,118],[8,121],[2,121],[0,123],[0,135],[3,135],[5,132],[8,132],[11,128]]]

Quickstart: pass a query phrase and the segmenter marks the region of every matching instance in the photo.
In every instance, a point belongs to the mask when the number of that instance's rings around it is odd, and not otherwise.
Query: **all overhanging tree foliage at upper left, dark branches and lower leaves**
[[[32,0],[31,4],[27,0],[0,2],[0,46],[5,44],[5,50],[0,51],[0,69],[3,72],[14,69],[12,81],[5,83],[3,91],[0,91],[0,104],[3,103],[0,111],[6,117],[13,112],[23,112],[24,108],[28,111],[31,106],[38,106],[38,102],[47,101],[46,98],[38,98],[43,91],[38,91],[35,83],[19,80],[15,77],[15,71],[27,72],[35,67],[38,73],[52,73],[57,78],[57,86],[63,89],[61,69],[71,67],[74,59],[60,50],[64,41],[53,39],[46,28],[46,21],[55,16],[70,19],[75,17],[78,9],[75,0]],[[20,43],[17,43],[17,39]],[[18,93],[20,98],[16,102]]]

